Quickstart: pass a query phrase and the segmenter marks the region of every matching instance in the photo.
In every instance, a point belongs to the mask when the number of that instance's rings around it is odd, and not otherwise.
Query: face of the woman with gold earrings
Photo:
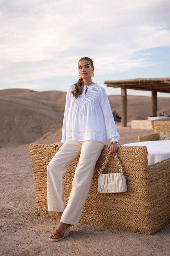
[[[82,79],[91,78],[93,71],[94,67],[91,66],[91,63],[88,60],[83,59],[78,62],[78,72]]]

